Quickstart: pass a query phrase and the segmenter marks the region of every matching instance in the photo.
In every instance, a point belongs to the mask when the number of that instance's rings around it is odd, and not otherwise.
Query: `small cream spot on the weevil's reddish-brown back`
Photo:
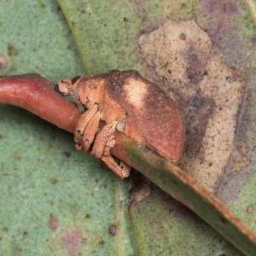
[[[123,88],[126,100],[138,109],[143,108],[143,102],[148,93],[147,84],[131,77],[125,81]]]

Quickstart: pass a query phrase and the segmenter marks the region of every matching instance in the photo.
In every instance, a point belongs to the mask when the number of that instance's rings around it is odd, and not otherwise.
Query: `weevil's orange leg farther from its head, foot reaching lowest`
[[[110,148],[115,145],[115,136],[113,133],[116,131],[118,121],[105,125],[102,130],[97,134],[95,143],[91,154],[101,159],[107,166],[121,178],[129,177],[131,167],[120,161],[116,163],[113,156],[110,154]]]

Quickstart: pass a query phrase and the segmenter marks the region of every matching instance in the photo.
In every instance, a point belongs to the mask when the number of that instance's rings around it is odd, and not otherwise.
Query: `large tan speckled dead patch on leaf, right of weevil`
[[[149,79],[156,83],[164,81],[164,86],[172,90],[173,98],[186,116],[187,141],[197,143],[186,147],[180,167],[215,191],[235,148],[245,76],[228,67],[195,19],[180,22],[166,19],[156,30],[141,35],[138,42],[143,65],[147,70],[156,70],[153,77],[148,72]],[[202,105],[207,100],[211,104]],[[204,106],[209,109],[204,110]],[[195,130],[195,125],[203,125],[196,122],[202,113],[204,126]],[[191,134],[196,134],[198,141],[191,140]],[[193,150],[195,154],[189,154]]]

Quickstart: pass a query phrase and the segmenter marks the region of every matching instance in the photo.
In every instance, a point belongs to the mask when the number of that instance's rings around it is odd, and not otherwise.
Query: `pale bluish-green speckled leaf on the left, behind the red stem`
[[[0,4],[0,75],[84,74],[58,3]],[[2,104],[0,148],[0,255],[137,255],[129,179],[78,152],[72,134]]]

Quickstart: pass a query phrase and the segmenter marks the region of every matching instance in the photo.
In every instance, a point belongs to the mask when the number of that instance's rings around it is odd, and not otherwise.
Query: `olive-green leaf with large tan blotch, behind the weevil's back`
[[[256,231],[255,4],[235,0],[59,3],[89,73],[134,68],[170,94],[182,109],[187,129],[179,166]],[[194,255],[239,255],[221,238],[216,242],[211,228],[196,224],[200,220],[186,221],[185,211],[177,210],[179,217],[167,211],[164,205],[172,207],[173,202],[163,202],[158,193],[150,193],[145,204],[131,204],[141,255],[147,255],[148,248],[156,255],[191,255],[190,250],[174,249],[175,244],[184,246],[184,239],[188,248],[198,248]],[[152,228],[154,221],[157,227],[175,230],[175,237],[164,236],[167,229]],[[193,227],[207,230],[207,239],[204,232],[194,232],[195,241],[184,238]],[[209,241],[214,245],[209,246]]]

